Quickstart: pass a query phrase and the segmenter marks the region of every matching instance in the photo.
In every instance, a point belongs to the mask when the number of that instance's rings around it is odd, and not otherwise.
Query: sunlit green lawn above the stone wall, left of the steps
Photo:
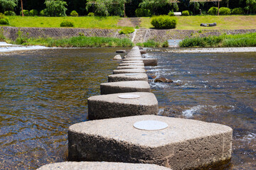
[[[60,28],[63,21],[72,21],[74,28],[121,28],[117,26],[119,16],[82,16],[82,17],[43,17],[43,16],[6,16],[9,19],[9,26],[14,27],[42,27],[42,28]]]

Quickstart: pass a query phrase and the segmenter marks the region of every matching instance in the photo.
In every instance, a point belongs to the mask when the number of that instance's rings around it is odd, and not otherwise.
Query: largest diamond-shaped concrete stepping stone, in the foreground
[[[134,128],[141,120],[159,120],[169,127],[154,131]],[[70,126],[68,158],[196,169],[230,159],[232,133],[225,125],[158,115],[87,121]]]

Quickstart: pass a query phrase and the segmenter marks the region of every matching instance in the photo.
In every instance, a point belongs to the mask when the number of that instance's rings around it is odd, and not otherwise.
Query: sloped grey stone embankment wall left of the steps
[[[129,38],[132,39],[133,34],[119,35],[116,29],[83,29],[83,28],[16,28],[16,27],[1,27],[4,36],[11,40],[16,40],[18,30],[28,38],[70,38],[79,35],[87,37],[113,37],[113,38]]]

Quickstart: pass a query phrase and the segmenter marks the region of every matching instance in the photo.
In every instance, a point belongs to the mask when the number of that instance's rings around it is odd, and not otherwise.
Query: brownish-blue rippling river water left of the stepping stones
[[[87,98],[118,65],[115,50],[0,54],[0,169],[65,160],[68,127],[86,120]]]

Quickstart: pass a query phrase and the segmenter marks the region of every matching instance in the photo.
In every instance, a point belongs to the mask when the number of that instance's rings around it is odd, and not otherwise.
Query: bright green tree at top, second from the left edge
[[[63,0],[46,0],[44,4],[46,4],[46,16],[67,16],[65,13],[68,10],[68,8],[65,8],[65,6],[68,6],[67,2]]]

